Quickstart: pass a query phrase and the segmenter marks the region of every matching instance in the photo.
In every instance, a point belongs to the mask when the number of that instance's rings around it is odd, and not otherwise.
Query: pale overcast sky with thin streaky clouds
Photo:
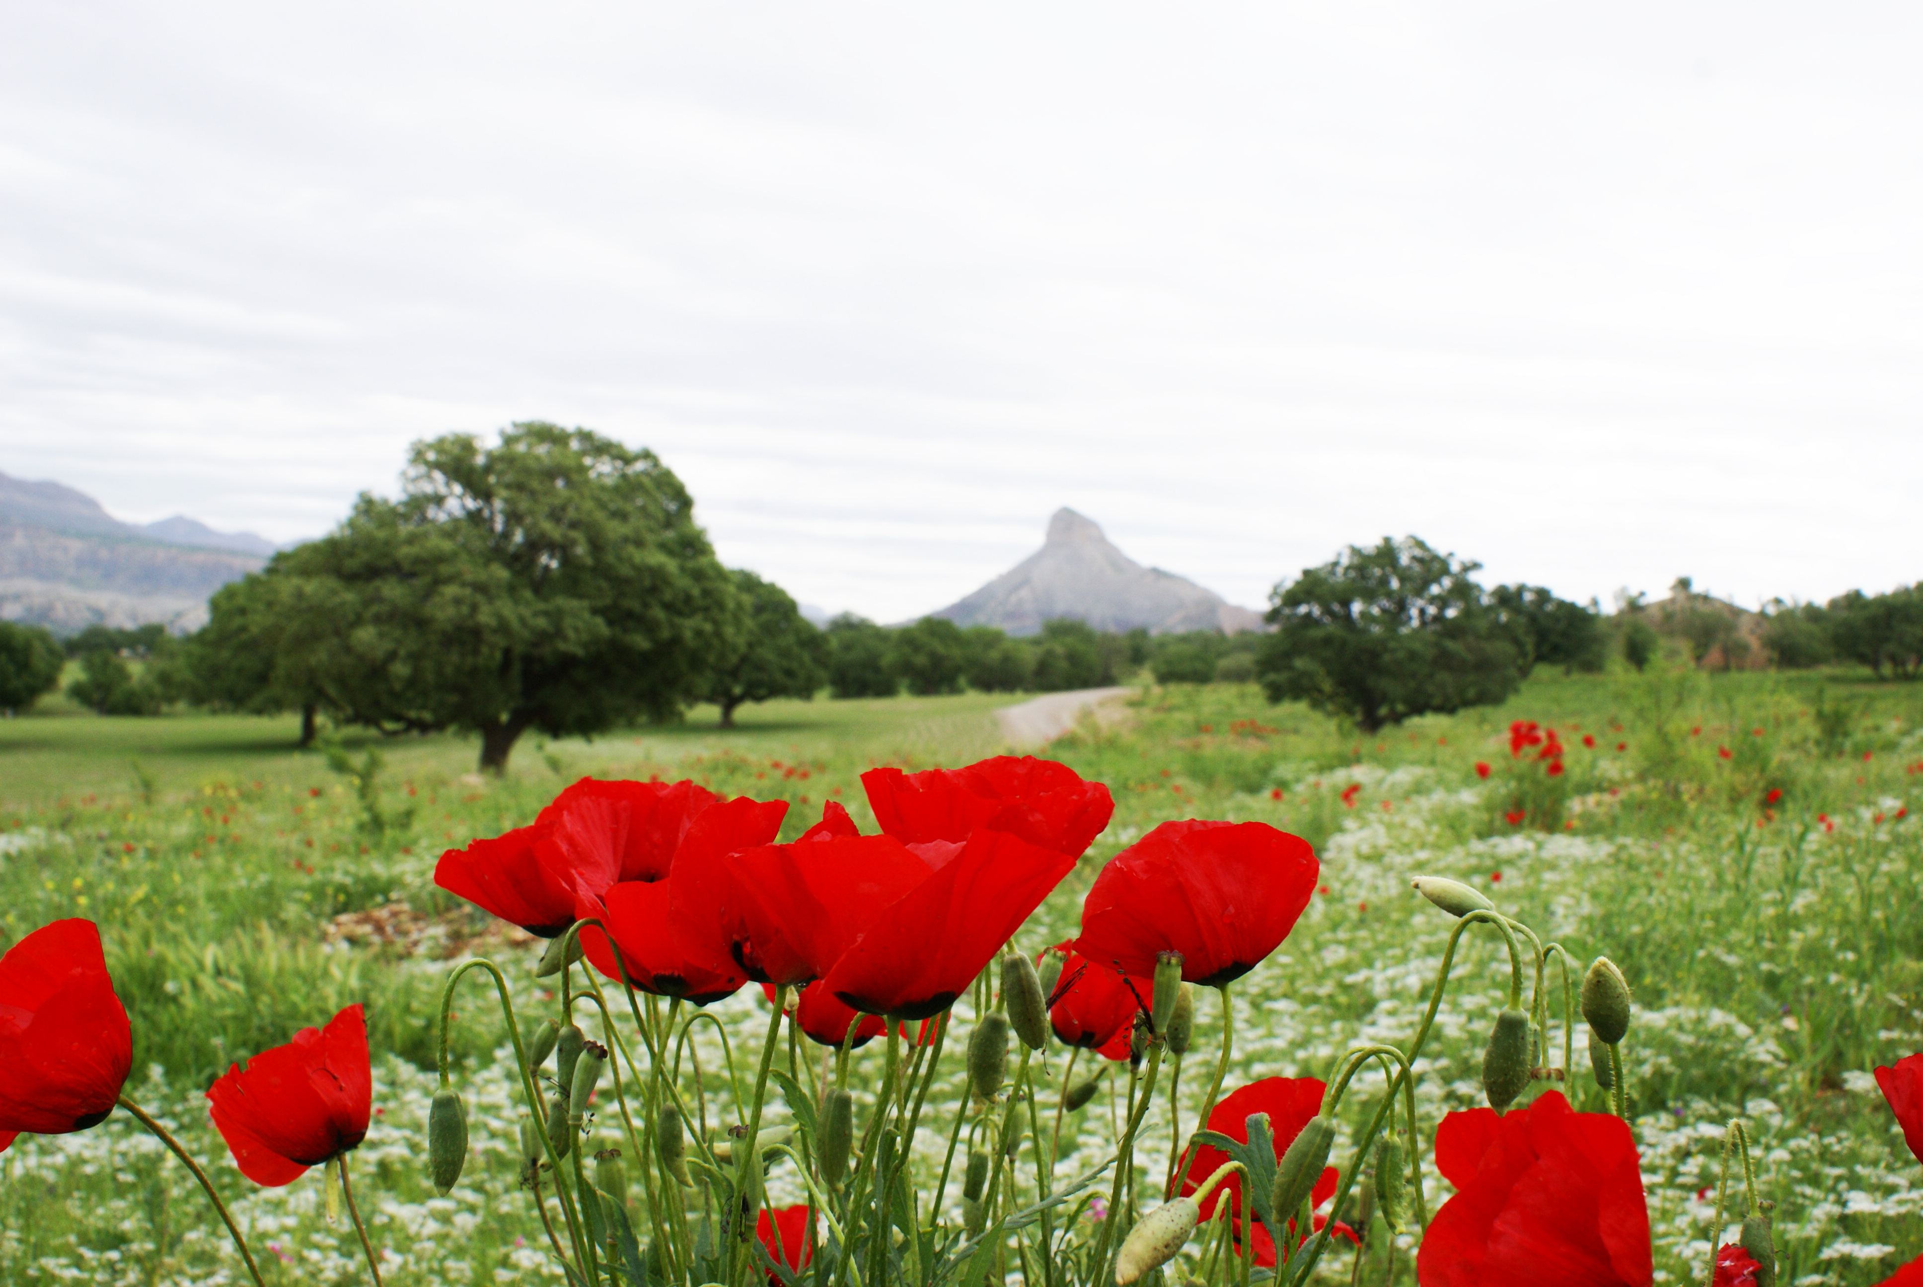
[[[652,446],[900,619],[1073,506],[1261,606],[1923,575],[1923,10],[0,10],[0,471],[288,541]]]

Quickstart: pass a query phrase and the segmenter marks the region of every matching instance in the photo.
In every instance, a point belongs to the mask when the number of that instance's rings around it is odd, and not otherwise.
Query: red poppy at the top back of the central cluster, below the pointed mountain
[[[883,835],[906,845],[962,843],[981,827],[1081,858],[1115,812],[1102,783],[1035,756],[994,756],[965,770],[869,770],[867,802]]]

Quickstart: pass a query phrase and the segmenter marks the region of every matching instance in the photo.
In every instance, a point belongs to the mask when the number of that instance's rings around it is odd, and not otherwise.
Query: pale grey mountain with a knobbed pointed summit
[[[1071,618],[1098,631],[1148,629],[1223,633],[1261,629],[1261,614],[1160,568],[1142,568],[1110,544],[1094,519],[1056,510],[1042,548],[967,598],[929,616],[956,625],[1000,625],[1035,635],[1042,621]]]

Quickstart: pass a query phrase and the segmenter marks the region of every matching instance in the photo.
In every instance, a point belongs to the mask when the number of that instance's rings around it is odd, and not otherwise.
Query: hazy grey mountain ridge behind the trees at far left
[[[254,533],[190,517],[123,523],[60,483],[0,473],[0,618],[69,635],[88,625],[160,621],[198,629],[208,598],[267,562]]]

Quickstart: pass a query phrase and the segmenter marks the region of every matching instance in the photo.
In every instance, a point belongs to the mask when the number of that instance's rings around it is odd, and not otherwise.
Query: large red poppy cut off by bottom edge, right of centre
[[[1536,1287],[1546,1266],[1592,1287],[1654,1281],[1640,1160],[1621,1118],[1575,1112],[1558,1091],[1502,1118],[1452,1112],[1435,1160],[1456,1197],[1423,1233],[1423,1287]]]

